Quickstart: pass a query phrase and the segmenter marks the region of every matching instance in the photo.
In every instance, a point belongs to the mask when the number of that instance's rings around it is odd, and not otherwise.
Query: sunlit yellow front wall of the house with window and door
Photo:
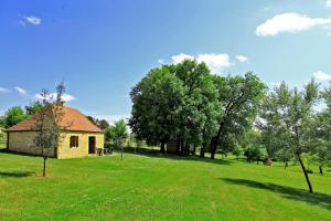
[[[71,147],[71,136],[78,136],[78,147]],[[67,131],[62,134],[62,141],[57,149],[58,159],[79,158],[88,155],[88,137],[96,138],[96,149],[104,148],[104,134]]]

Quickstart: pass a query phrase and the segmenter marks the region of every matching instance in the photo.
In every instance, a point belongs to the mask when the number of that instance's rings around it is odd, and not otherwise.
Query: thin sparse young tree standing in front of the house
[[[42,151],[43,177],[46,176],[46,160],[50,150],[56,150],[57,145],[62,140],[61,130],[65,129],[60,127],[64,103],[62,96],[65,92],[63,83],[57,85],[56,92],[56,98],[52,98],[47,90],[42,90],[40,94],[42,97],[42,107],[33,115],[34,125],[32,126],[32,129],[36,133],[33,141]]]

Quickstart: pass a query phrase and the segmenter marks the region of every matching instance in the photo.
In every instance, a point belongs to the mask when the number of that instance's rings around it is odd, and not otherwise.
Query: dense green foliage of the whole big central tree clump
[[[182,154],[190,145],[229,152],[238,135],[252,126],[264,90],[252,72],[222,77],[196,61],[163,65],[132,88],[129,125],[139,139],[161,144],[161,149],[172,140]]]

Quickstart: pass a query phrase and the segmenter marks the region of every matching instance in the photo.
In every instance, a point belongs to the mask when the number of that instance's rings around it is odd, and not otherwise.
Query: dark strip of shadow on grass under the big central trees
[[[115,150],[117,151],[117,150]],[[210,162],[214,165],[231,165],[233,164],[231,160],[224,160],[224,159],[209,159],[209,158],[200,158],[196,155],[190,155],[190,156],[180,156],[180,155],[173,155],[173,154],[161,154],[158,149],[147,149],[147,148],[132,148],[132,147],[126,147],[125,154],[135,154],[151,158],[162,158],[162,159],[171,159],[171,160],[181,160],[181,161],[201,161],[201,162]]]

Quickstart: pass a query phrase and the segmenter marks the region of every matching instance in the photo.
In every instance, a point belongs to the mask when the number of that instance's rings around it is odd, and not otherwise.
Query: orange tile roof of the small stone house
[[[7,131],[29,131],[33,130],[32,127],[35,120],[33,116],[28,119],[10,127]],[[86,118],[79,110],[63,106],[63,116],[60,123],[60,126],[65,127],[70,131],[93,131],[93,133],[104,133],[100,128],[95,126],[89,119]]]

